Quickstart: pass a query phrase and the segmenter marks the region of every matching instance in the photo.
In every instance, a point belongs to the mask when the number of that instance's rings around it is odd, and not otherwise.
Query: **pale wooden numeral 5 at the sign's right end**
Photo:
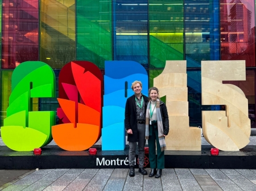
[[[202,61],[202,105],[226,105],[226,111],[203,111],[205,139],[223,151],[249,143],[248,100],[242,90],[222,80],[245,80],[245,61]]]

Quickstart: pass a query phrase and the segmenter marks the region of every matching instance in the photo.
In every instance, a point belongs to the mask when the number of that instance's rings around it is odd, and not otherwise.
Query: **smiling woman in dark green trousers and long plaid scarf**
[[[164,137],[169,132],[169,118],[166,104],[159,100],[159,91],[156,87],[148,90],[148,104],[146,111],[146,139],[148,139],[149,161],[151,172],[149,177],[162,176],[164,168],[164,150],[166,142]],[[155,156],[155,142],[157,147],[157,161]],[[156,168],[157,171],[156,171]]]

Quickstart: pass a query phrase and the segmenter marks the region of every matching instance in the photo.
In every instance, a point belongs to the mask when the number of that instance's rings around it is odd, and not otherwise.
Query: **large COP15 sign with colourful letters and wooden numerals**
[[[202,104],[226,105],[226,111],[202,112],[205,139],[220,150],[240,150],[250,137],[248,101],[240,88],[222,80],[245,80],[245,61],[202,61],[201,74]],[[44,62],[23,62],[11,78],[7,117],[1,127],[3,142],[15,151],[32,151],[53,138],[64,150],[81,151],[102,137],[102,150],[124,150],[125,103],[134,94],[129,88],[134,80],[141,80],[142,93],[147,95],[147,72],[137,62],[106,61],[104,80],[91,62],[67,63],[59,75],[60,122],[55,125],[55,112],[31,109],[33,97],[55,97],[53,70]],[[186,61],[166,61],[154,86],[166,96],[167,150],[200,151],[201,131],[189,127]]]

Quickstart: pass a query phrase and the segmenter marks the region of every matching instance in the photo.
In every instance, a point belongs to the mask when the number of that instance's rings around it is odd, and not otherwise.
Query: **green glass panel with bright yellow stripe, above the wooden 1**
[[[166,60],[184,60],[183,1],[155,1],[149,3],[150,67],[166,65]]]

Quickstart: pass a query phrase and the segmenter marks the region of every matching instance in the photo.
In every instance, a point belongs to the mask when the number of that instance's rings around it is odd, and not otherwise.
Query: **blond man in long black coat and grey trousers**
[[[129,141],[129,176],[134,176],[135,150],[138,142],[139,151],[139,172],[147,175],[144,165],[144,146],[145,146],[145,129],[146,129],[146,107],[147,96],[142,95],[142,83],[135,81],[131,84],[134,95],[129,97],[125,105],[125,128]]]

